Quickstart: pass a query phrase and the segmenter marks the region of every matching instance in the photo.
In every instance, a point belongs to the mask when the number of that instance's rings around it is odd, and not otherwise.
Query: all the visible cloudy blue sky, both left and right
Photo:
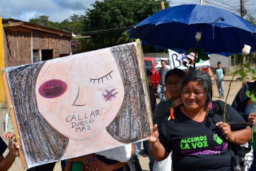
[[[100,0],[103,1],[103,0]],[[125,1],[125,0],[120,0]],[[207,4],[236,12],[239,15],[240,0],[205,0]],[[250,14],[256,14],[255,0],[246,0],[245,8]],[[200,0],[169,0],[170,6],[179,4],[199,4]],[[0,0],[0,15],[2,18],[13,18],[29,22],[40,15],[49,16],[51,22],[62,22],[73,14],[85,15],[87,9],[95,0]]]

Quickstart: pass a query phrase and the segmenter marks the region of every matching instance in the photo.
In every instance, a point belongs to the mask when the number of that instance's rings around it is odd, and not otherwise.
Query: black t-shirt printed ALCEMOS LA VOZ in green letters
[[[226,121],[244,119],[227,105]],[[173,151],[173,168],[177,170],[231,170],[233,151],[223,137],[216,122],[223,121],[223,114],[210,111],[205,120],[195,122],[184,115],[179,107],[174,109],[174,120],[168,114],[159,123],[160,141],[166,151]]]

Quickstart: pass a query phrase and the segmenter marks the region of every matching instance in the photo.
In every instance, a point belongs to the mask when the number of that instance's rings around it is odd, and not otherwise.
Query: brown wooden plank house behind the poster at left
[[[1,21],[1,20],[0,20]],[[0,67],[23,65],[72,54],[72,33],[14,19],[2,19]],[[0,33],[1,33],[0,32]],[[2,84],[0,77],[0,84]],[[5,103],[0,85],[0,104]]]

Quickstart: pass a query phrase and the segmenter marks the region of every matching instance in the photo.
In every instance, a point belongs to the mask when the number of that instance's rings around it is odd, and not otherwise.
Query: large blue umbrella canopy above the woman
[[[241,54],[244,44],[256,50],[256,27],[228,10],[186,4],[169,7],[131,28],[130,38],[184,53],[195,48],[195,33],[202,32],[198,49],[207,54]]]

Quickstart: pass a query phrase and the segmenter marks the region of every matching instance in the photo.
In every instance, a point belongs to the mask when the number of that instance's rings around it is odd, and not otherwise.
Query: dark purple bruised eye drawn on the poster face
[[[38,92],[45,98],[61,96],[67,90],[67,84],[59,79],[50,79],[40,85]]]

